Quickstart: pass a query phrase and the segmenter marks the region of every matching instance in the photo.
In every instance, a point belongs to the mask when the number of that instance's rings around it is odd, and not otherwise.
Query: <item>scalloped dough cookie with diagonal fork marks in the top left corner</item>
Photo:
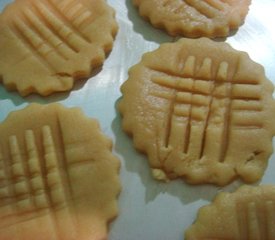
[[[70,90],[103,63],[117,28],[105,0],[15,0],[0,15],[0,78],[22,96]]]

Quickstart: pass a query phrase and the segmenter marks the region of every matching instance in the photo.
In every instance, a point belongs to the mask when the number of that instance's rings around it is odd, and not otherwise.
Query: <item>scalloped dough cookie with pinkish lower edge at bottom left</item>
[[[78,108],[32,104],[0,124],[0,239],[102,240],[119,161]]]

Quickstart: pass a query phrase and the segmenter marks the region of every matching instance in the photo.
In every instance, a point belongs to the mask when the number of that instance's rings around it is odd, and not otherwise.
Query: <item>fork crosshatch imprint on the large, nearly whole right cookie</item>
[[[151,68],[151,81],[164,89],[173,91],[152,91],[151,94],[170,102],[165,129],[164,147],[168,148],[174,142],[173,125],[178,126],[182,121],[182,152],[192,159],[201,159],[208,152],[208,127],[215,126],[220,132],[218,139],[221,143],[216,149],[215,157],[223,162],[226,156],[229,130],[258,130],[262,127],[258,113],[261,111],[261,86],[258,83],[247,83],[228,77],[229,64],[221,62],[216,73],[212,72],[212,60],[205,58],[198,72],[194,73],[196,59],[189,56],[181,73],[161,72]],[[244,114],[245,112],[245,114]],[[245,122],[238,117],[241,114],[253,120]],[[243,116],[244,115],[244,116]],[[254,118],[255,117],[255,118]],[[177,120],[178,119],[178,120]],[[201,123],[201,124],[198,124]],[[177,129],[178,131],[178,129]],[[210,133],[211,134],[211,133]],[[196,135],[196,136],[193,136]]]

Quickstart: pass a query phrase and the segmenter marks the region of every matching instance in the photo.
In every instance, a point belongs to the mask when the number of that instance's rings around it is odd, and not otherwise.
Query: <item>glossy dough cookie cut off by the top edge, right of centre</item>
[[[251,0],[133,0],[142,17],[170,35],[225,37],[244,21]]]

